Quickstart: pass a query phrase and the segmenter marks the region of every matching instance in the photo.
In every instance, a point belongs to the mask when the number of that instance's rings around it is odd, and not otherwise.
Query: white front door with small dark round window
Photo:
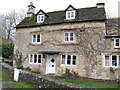
[[[46,58],[46,74],[55,74],[56,57],[55,55],[47,55]]]

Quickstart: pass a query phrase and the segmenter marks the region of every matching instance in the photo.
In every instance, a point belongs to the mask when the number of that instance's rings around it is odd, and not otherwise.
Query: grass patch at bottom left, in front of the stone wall
[[[34,88],[25,82],[7,83],[7,84],[5,84],[5,86],[10,87],[10,88]]]

